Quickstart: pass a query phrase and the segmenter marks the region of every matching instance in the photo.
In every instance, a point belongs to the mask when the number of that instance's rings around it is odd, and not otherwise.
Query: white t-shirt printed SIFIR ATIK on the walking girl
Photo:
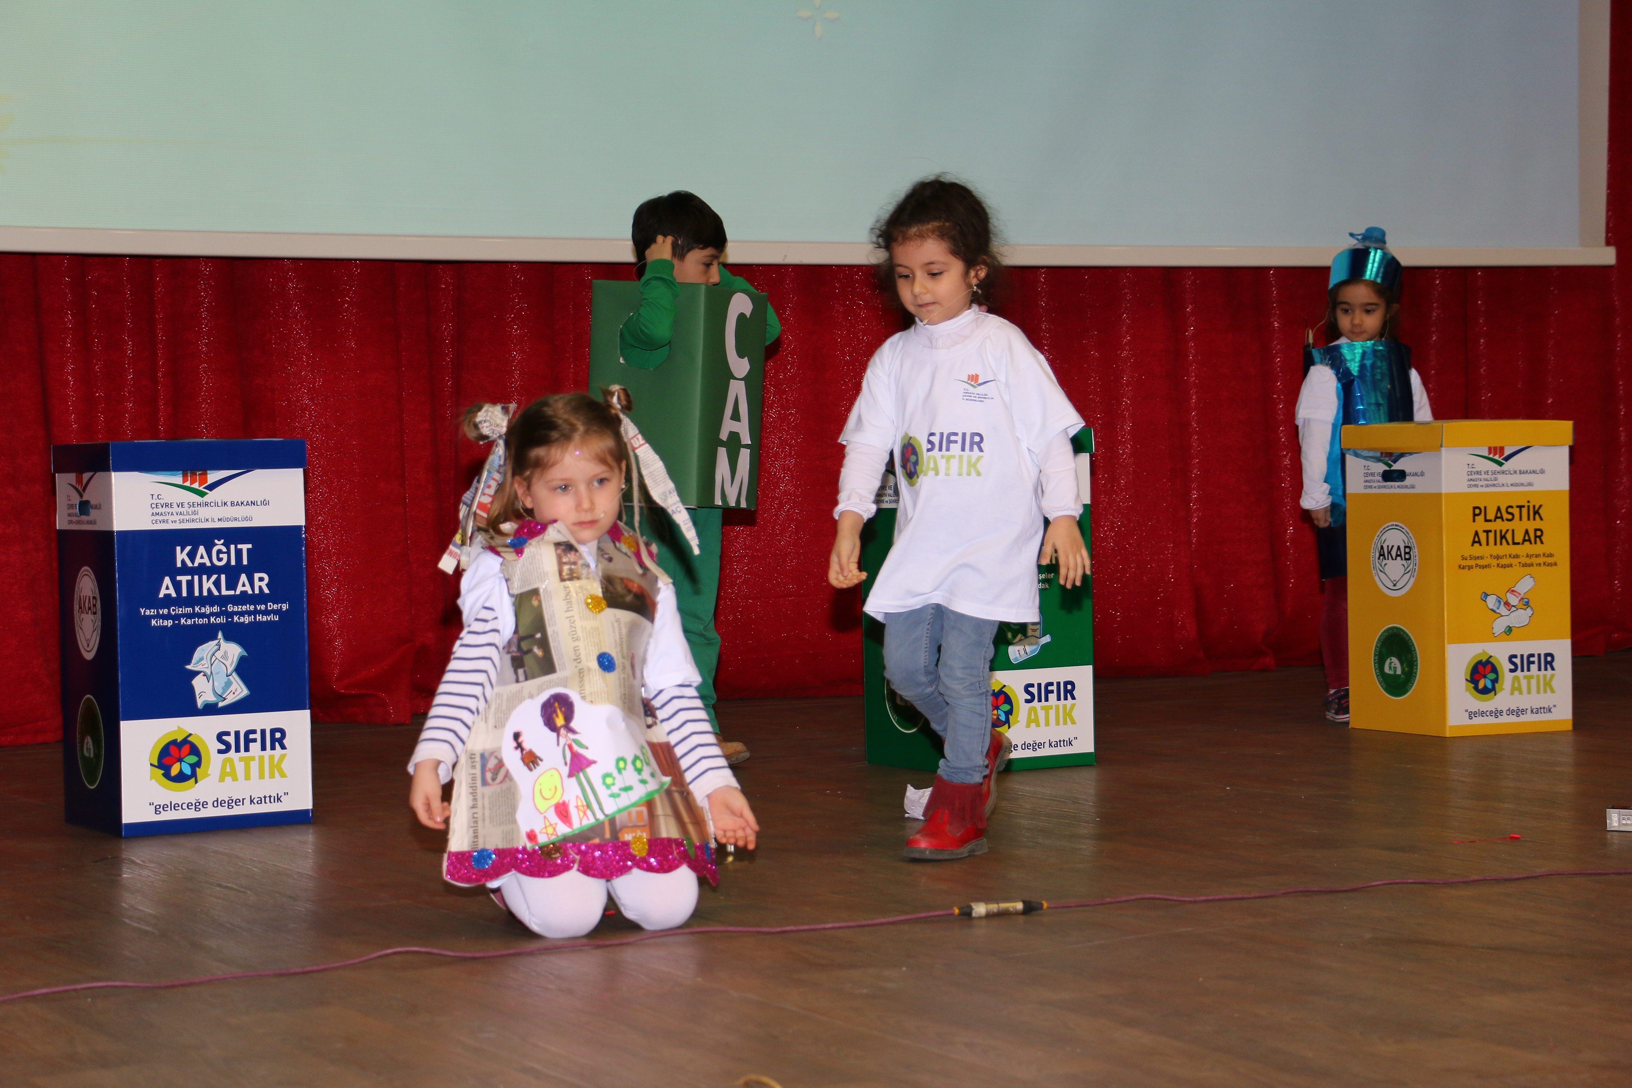
[[[1035,623],[1038,458],[1080,427],[1048,360],[996,315],[969,308],[885,341],[839,436],[896,457],[896,540],[868,615],[938,604]]]

